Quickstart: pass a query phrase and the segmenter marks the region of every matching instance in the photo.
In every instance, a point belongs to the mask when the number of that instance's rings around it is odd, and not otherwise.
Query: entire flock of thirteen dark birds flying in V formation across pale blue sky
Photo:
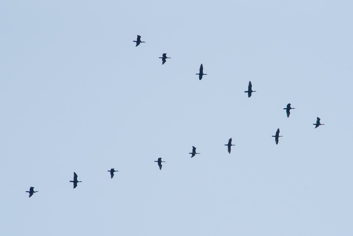
[[[140,43],[145,43],[145,42],[141,41],[141,36],[139,36],[139,35],[137,35],[137,40],[133,41],[133,42],[136,42],[136,47],[139,46]],[[170,57],[167,57],[167,53],[163,53],[162,57],[160,57],[160,58],[162,58],[162,65],[163,65],[164,63],[166,63],[166,59],[170,58]],[[199,80],[202,79],[202,76],[207,75],[207,74],[203,73],[203,65],[202,64],[200,66],[199,73],[196,73],[196,75],[199,76]],[[247,93],[248,98],[250,98],[251,97],[251,93],[253,93],[253,92],[256,92],[256,91],[252,90],[252,84],[251,84],[251,81],[249,81],[248,89],[244,93]],[[290,103],[287,104],[286,108],[283,108],[283,110],[286,110],[288,118],[289,118],[289,115],[291,114],[291,112],[290,112],[291,109],[295,109],[295,108],[291,107]],[[313,125],[315,125],[315,129],[316,129],[320,125],[324,125],[324,124],[321,124],[320,123],[320,118],[317,117],[316,123],[313,124]],[[279,137],[283,137],[283,136],[280,136],[280,129],[279,128],[276,131],[276,135],[273,135],[272,137],[275,137],[276,144],[278,144]],[[234,144],[232,144],[232,138],[229,138],[228,144],[224,144],[224,145],[228,147],[228,153],[229,154],[231,153],[231,147],[235,146]],[[197,153],[196,152],[196,147],[192,146],[192,152],[190,152],[189,154],[191,154],[191,158],[192,158],[192,157],[195,157],[196,154],[201,154],[201,153]],[[162,158],[158,158],[158,160],[155,161],[155,162],[157,162],[159,169],[162,170],[162,162],[165,162],[165,161],[162,161]],[[114,168],[112,168],[112,169],[108,170],[108,172],[110,172],[110,178],[113,178],[114,177],[114,172],[118,172],[118,171],[114,170]],[[77,183],[82,182],[82,181],[77,181],[77,174],[75,172],[73,172],[73,181],[71,180],[70,182],[73,183],[73,188],[76,188],[77,187]],[[38,191],[34,191],[34,187],[30,187],[29,191],[26,191],[26,193],[29,193],[29,197],[31,197],[34,193],[37,193],[37,192]]]

